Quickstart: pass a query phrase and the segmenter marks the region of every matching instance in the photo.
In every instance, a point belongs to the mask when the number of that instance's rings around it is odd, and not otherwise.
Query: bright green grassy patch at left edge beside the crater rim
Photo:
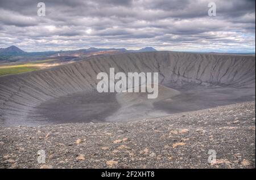
[[[9,74],[19,74],[22,72],[31,72],[35,70],[38,70],[38,68],[27,67],[27,66],[14,66],[14,67],[0,68],[0,76],[9,75]]]

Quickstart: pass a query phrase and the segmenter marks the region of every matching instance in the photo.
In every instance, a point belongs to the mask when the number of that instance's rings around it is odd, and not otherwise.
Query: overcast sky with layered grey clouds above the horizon
[[[38,2],[46,16],[38,16]],[[0,48],[255,52],[255,1],[0,0]],[[208,3],[216,16],[208,15]]]

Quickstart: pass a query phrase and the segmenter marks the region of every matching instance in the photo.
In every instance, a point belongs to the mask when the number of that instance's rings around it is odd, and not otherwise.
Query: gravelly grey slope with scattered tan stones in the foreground
[[[255,102],[127,123],[0,127],[0,168],[255,168]]]

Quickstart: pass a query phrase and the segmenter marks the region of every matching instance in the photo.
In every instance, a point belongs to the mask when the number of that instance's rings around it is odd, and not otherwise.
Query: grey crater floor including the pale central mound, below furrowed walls
[[[44,102],[28,114],[28,119],[39,125],[128,122],[255,99],[246,88],[203,85],[175,88],[180,91],[160,85],[159,96],[156,99],[148,99],[147,93],[76,93]]]

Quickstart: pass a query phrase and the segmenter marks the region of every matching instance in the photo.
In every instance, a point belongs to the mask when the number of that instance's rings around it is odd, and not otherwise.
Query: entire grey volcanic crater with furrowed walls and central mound
[[[97,74],[158,72],[159,96],[98,93]],[[0,77],[0,125],[127,122],[255,100],[255,56],[144,52]]]

